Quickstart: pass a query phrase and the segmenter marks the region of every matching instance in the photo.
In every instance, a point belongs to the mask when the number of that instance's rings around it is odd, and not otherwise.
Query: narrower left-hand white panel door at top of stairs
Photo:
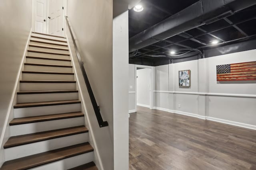
[[[47,0],[36,0],[35,7],[35,31],[38,33],[46,33]]]

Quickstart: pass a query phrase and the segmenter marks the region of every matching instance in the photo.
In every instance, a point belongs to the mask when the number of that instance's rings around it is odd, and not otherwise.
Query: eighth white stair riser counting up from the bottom
[[[25,71],[73,72],[72,67],[24,65]]]

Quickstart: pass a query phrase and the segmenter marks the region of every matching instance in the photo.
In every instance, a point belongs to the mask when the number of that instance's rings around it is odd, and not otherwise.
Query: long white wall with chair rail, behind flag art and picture
[[[256,50],[156,66],[155,108],[256,129],[256,82],[216,81],[216,65],[249,61]],[[178,70],[191,70],[189,88],[178,86]]]

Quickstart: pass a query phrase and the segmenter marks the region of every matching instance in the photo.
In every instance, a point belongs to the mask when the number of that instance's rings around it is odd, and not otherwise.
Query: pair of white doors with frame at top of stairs
[[[32,31],[64,36],[67,0],[32,0]]]

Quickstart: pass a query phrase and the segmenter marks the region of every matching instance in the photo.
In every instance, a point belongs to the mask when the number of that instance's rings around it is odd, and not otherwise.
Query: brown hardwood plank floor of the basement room
[[[256,170],[256,131],[139,107],[130,170]]]

